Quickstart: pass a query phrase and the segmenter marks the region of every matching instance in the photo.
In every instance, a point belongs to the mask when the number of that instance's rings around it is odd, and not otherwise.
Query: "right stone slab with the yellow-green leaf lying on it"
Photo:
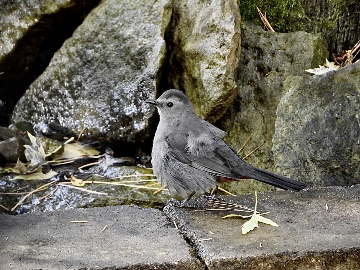
[[[221,198],[255,204],[254,194]],[[191,203],[201,208],[204,199]],[[279,227],[259,223],[243,235],[247,220],[220,219],[229,212],[164,208],[210,270],[360,269],[360,185],[259,193],[258,210],[271,211],[266,217]]]

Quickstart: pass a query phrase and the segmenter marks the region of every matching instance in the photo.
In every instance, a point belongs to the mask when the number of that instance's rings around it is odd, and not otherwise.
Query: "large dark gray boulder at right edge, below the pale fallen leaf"
[[[360,183],[360,63],[284,81],[273,152],[278,172],[312,186]]]

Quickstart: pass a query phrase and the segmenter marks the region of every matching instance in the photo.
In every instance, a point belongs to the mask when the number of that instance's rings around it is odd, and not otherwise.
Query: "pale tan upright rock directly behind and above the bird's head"
[[[170,27],[171,88],[184,90],[196,113],[219,119],[237,93],[240,11],[236,0],[174,1]]]

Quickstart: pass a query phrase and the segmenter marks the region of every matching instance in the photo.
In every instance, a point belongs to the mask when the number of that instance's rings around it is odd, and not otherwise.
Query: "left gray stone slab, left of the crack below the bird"
[[[161,211],[137,206],[0,215],[0,252],[6,270],[203,269]]]

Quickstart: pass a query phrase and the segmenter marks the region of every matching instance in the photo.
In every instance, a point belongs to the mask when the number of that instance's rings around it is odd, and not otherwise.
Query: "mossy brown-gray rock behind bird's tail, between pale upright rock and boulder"
[[[276,108],[286,93],[282,83],[289,75],[309,77],[305,69],[325,61],[326,41],[321,34],[306,32],[272,33],[246,22],[242,23],[242,52],[235,71],[238,95],[217,125],[228,132],[225,140],[240,149],[253,133],[240,156],[244,157],[260,144],[247,162],[274,171],[271,142],[275,132]],[[229,184],[228,184],[229,185]],[[253,190],[274,189],[258,181],[244,180],[227,188],[247,193]]]

